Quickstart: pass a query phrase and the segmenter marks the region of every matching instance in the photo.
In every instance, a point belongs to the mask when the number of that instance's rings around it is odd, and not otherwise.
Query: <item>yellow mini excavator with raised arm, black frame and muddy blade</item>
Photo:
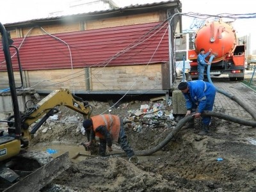
[[[0,129],[0,191],[39,191],[67,170],[70,161],[68,152],[53,158],[48,152],[29,151],[29,141],[50,116],[58,113],[58,106],[81,113],[84,119],[90,118],[92,107],[69,90],[60,89],[20,112],[10,56],[12,40],[1,23],[0,33],[13,104],[13,115],[0,120],[8,124],[8,131]]]

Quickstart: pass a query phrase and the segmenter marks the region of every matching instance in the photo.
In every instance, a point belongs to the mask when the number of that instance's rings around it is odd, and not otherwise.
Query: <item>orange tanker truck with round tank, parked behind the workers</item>
[[[197,55],[200,49],[212,49],[215,57],[211,63],[210,75],[228,74],[230,81],[243,80],[245,68],[245,45],[238,45],[236,31],[226,22],[213,21],[198,29],[195,35],[195,50],[188,51],[191,79],[198,78]],[[211,55],[206,58],[209,61]],[[205,70],[205,76],[207,70]]]

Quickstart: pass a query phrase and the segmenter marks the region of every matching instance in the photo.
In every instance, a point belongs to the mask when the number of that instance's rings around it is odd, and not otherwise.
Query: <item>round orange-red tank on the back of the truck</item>
[[[234,51],[236,32],[232,26],[221,20],[208,22],[198,29],[195,36],[195,47],[196,52],[200,52],[202,48],[205,49],[205,52],[212,49],[212,53],[216,54],[212,63],[216,63]]]

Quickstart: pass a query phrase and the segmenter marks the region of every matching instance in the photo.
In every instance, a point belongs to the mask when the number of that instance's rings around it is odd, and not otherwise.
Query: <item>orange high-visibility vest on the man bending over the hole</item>
[[[91,117],[92,119],[92,125],[93,125],[93,131],[95,132],[95,135],[101,139],[106,139],[102,134],[99,132],[96,132],[95,130],[100,125],[105,126],[109,133],[111,134],[111,138],[113,141],[118,141],[119,137],[119,131],[120,131],[120,118],[116,115],[95,115]]]

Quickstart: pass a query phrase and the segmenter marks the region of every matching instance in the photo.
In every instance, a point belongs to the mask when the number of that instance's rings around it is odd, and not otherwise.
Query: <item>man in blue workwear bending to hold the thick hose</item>
[[[193,116],[200,118],[201,113],[204,111],[212,111],[216,95],[216,88],[213,84],[201,80],[181,82],[178,89],[183,93],[186,99],[186,116],[196,112]],[[210,123],[211,116],[202,116],[202,131],[198,134],[207,134],[209,132]],[[195,124],[195,122],[190,122],[190,124]]]

